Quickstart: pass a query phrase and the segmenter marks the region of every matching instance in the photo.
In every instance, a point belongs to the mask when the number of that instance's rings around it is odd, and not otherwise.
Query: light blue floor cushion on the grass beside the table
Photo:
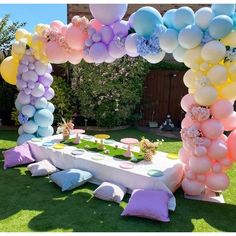
[[[68,170],[56,172],[50,175],[49,178],[55,184],[61,187],[62,191],[66,191],[66,190],[74,189],[84,184],[92,177],[93,177],[92,174],[88,171],[84,171],[80,169],[68,169]]]

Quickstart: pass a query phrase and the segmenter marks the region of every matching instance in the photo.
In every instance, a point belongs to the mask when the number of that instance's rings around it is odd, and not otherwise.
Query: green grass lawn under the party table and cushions
[[[157,139],[135,129],[107,132],[122,137]],[[92,134],[92,132],[90,132]],[[13,147],[17,132],[0,131],[0,151]],[[181,142],[165,139],[161,151],[177,153]],[[96,185],[85,184],[74,191],[60,191],[48,177],[33,178],[25,167],[3,170],[0,152],[0,231],[236,231],[236,167],[228,173],[231,185],[224,193],[226,204],[187,200],[179,189],[177,208],[169,223],[141,218],[122,218],[129,195],[120,205],[92,197]]]

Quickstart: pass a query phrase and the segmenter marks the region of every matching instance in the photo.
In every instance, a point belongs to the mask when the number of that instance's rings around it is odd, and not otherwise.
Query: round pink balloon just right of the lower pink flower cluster
[[[209,139],[219,138],[223,132],[223,125],[216,119],[208,119],[201,124],[203,135]]]

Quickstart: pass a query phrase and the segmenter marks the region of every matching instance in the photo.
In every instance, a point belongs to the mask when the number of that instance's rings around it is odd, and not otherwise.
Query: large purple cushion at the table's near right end
[[[168,201],[171,195],[163,190],[136,189],[121,216],[137,216],[169,222]]]

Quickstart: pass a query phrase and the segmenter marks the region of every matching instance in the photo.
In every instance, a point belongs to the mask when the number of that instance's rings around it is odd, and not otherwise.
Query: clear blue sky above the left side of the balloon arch
[[[11,21],[26,22],[24,27],[29,32],[39,24],[49,24],[53,20],[67,23],[66,4],[0,4],[0,19],[10,14]]]

